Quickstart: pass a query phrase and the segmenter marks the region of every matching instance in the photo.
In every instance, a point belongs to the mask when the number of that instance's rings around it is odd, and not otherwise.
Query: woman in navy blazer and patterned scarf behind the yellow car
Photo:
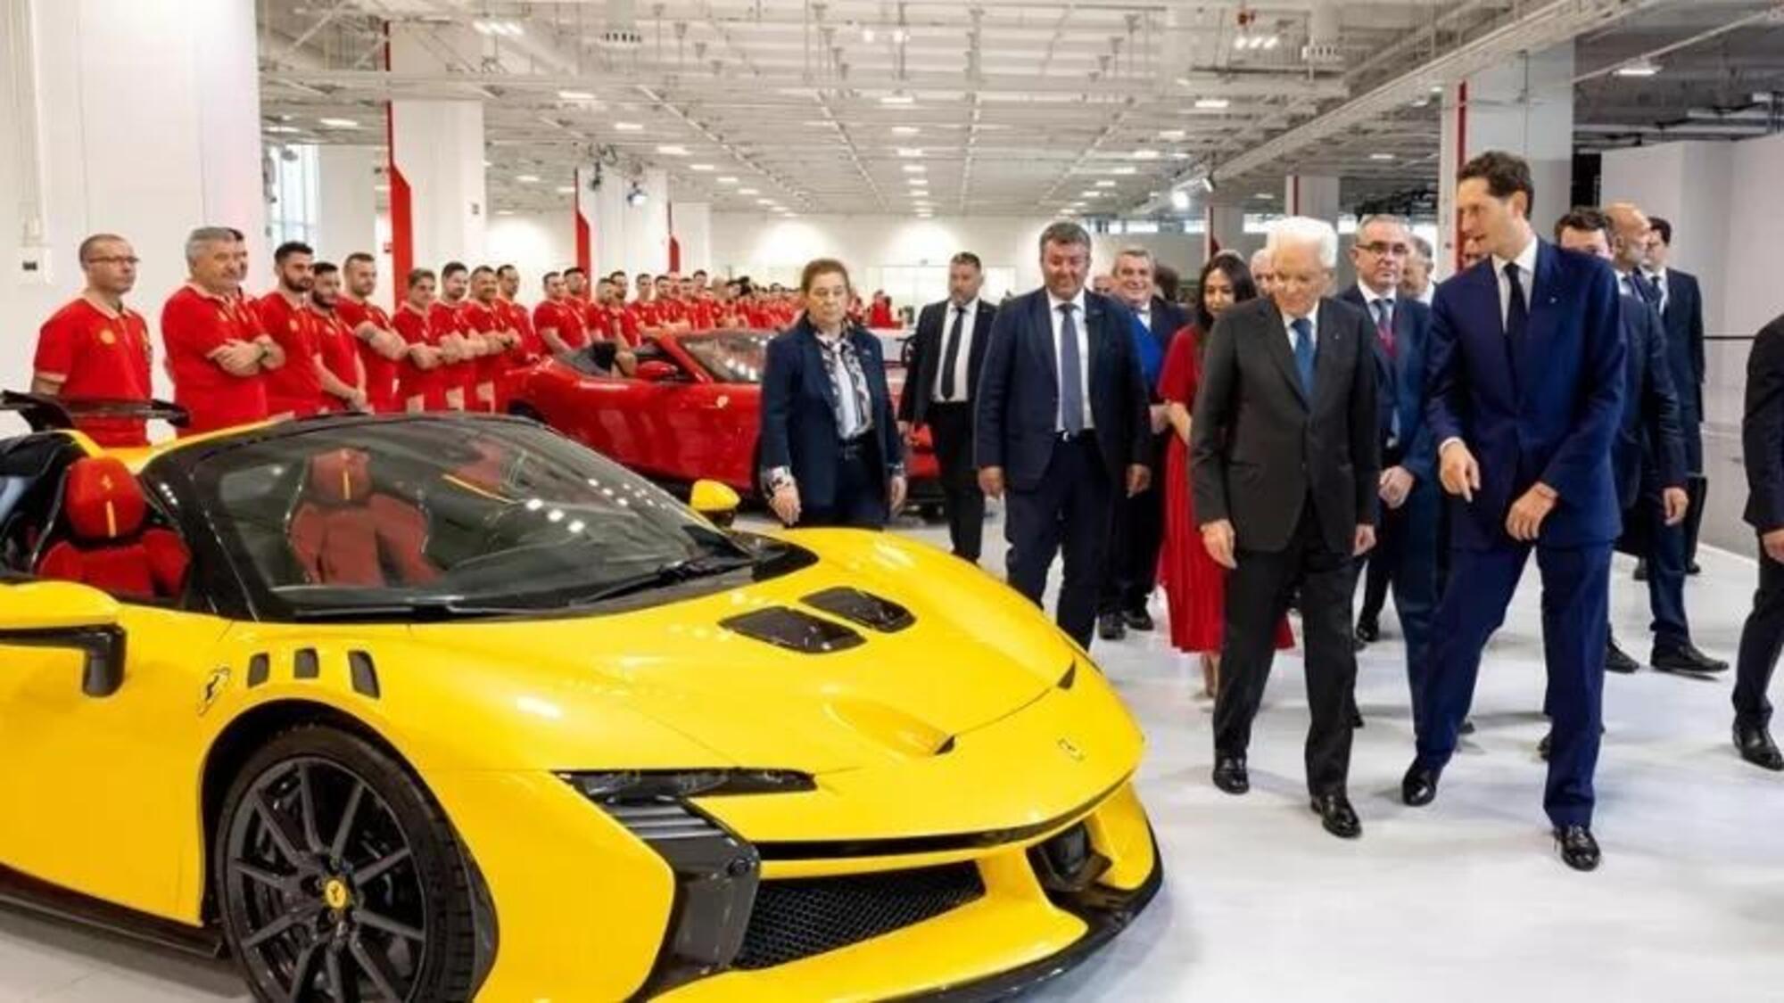
[[[847,319],[849,271],[817,259],[799,275],[805,314],[769,343],[762,371],[762,484],[789,526],[881,528],[904,503],[880,339]]]

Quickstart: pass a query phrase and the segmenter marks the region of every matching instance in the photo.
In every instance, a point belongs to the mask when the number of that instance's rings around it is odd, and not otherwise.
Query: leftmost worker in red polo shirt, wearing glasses
[[[152,391],[148,321],[123,305],[136,286],[136,250],[116,234],[80,241],[80,296],[37,332],[30,393],[70,400],[146,402]],[[75,418],[75,428],[100,446],[146,446],[141,418]]]

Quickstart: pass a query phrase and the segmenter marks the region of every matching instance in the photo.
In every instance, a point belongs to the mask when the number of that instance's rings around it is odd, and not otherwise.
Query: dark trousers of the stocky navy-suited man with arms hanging
[[[1010,585],[1040,605],[1047,569],[1065,551],[1065,580],[1054,621],[1085,650],[1097,623],[1097,584],[1110,537],[1115,485],[1103,466],[1094,432],[1053,444],[1040,484],[1010,489],[1004,498],[1004,539],[1010,543]]]

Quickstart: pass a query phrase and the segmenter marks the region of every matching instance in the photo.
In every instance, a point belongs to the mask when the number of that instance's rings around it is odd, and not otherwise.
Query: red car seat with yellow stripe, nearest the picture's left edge
[[[80,582],[125,598],[177,598],[191,551],[178,534],[143,528],[143,485],[116,457],[84,457],[62,480],[66,539],[37,559],[37,576]]]

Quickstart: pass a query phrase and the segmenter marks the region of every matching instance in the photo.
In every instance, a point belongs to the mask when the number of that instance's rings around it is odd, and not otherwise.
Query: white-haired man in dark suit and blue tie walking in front
[[[1270,230],[1274,298],[1215,323],[1195,398],[1190,464],[1208,553],[1233,573],[1226,593],[1213,782],[1251,789],[1245,750],[1268,678],[1276,623],[1299,585],[1306,644],[1306,767],[1326,832],[1363,833],[1347,796],[1356,651],[1352,560],[1375,544],[1381,416],[1375,332],[1326,298],[1338,234],[1288,218]]]

